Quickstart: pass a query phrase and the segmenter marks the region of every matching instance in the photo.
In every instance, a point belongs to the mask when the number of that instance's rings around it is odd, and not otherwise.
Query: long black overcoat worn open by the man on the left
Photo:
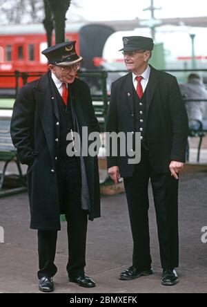
[[[59,113],[52,95],[50,72],[29,82],[19,91],[11,120],[11,136],[19,158],[28,166],[30,227],[60,230],[59,189],[56,176]],[[75,79],[70,85],[79,131],[100,131],[86,82]],[[90,143],[88,143],[90,145]],[[99,171],[96,157],[84,157],[90,194],[89,219],[100,216]]]

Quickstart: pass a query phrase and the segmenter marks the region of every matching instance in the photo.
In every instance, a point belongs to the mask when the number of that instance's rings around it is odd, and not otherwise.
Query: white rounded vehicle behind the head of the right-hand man
[[[190,35],[195,35],[194,39]],[[141,35],[151,37],[150,28],[135,28],[118,31],[110,35],[103,48],[101,65],[109,71],[126,70],[124,57],[119,51],[123,47],[122,37]],[[202,69],[207,68],[206,28],[186,26],[160,26],[156,28],[155,48],[150,63],[157,69]],[[194,46],[193,46],[194,45]],[[195,57],[193,57],[193,53]],[[125,73],[109,73],[109,84]],[[174,73],[179,81],[186,80],[186,73]],[[203,73],[204,74],[204,73]],[[207,75],[206,75],[207,76]]]

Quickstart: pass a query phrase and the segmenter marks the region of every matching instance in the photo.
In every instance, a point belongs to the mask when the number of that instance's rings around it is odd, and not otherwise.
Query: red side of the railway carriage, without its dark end
[[[77,41],[79,52],[79,28],[71,26],[66,39]],[[20,72],[44,73],[47,59],[41,51],[47,48],[46,32],[41,24],[2,26],[0,30],[0,74]],[[53,37],[53,44],[55,38]],[[0,88],[14,88],[14,77],[1,77]],[[20,84],[22,85],[22,84]]]

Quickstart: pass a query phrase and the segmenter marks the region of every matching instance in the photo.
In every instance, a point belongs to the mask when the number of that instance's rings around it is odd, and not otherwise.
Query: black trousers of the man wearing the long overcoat
[[[81,209],[81,172],[78,158],[59,158],[57,164],[60,203],[66,212],[68,232],[68,264],[70,277],[84,272],[86,266],[86,232],[88,212]],[[52,277],[57,272],[56,230],[38,230],[38,278]]]

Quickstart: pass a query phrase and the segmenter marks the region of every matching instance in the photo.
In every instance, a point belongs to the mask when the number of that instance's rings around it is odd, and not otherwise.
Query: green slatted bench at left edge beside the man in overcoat
[[[21,165],[17,156],[17,149],[12,144],[10,136],[10,117],[0,117],[0,161],[5,162],[3,170],[0,173],[0,190],[3,187],[3,181],[6,176],[6,169],[9,162],[14,161],[17,165],[19,175],[17,175],[23,182],[23,175],[21,171]]]

